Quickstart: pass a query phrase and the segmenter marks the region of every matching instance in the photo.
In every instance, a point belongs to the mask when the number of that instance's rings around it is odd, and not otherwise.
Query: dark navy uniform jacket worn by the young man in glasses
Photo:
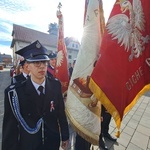
[[[37,121],[43,118],[44,144],[41,129],[35,134],[29,134],[14,116],[8,97],[12,89],[17,92],[20,113],[29,127],[35,128]],[[61,84],[54,78],[46,78],[42,112],[39,95],[30,79],[9,86],[4,99],[2,150],[59,150],[60,138],[62,141],[69,139],[64,109]]]

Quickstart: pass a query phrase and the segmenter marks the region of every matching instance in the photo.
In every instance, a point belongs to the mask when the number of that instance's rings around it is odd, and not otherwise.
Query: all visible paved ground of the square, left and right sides
[[[10,84],[9,69],[0,70],[0,149],[1,129],[4,111],[4,89]],[[110,133],[115,135],[116,128],[112,119]],[[71,146],[68,150],[74,150],[74,131],[70,128]],[[143,95],[133,109],[125,115],[121,135],[117,143],[106,140],[109,150],[150,150],[150,92]],[[101,150],[97,146],[91,146],[91,150]]]

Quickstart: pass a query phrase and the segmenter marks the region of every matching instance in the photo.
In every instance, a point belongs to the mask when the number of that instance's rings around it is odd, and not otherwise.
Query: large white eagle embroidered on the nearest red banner
[[[118,40],[120,46],[125,50],[131,50],[129,61],[139,58],[145,50],[145,44],[149,42],[150,36],[142,35],[145,29],[144,12],[141,0],[133,0],[133,6],[129,0],[119,0],[122,14],[117,14],[108,20],[106,29],[112,35],[112,40]],[[129,17],[124,13],[129,11]]]

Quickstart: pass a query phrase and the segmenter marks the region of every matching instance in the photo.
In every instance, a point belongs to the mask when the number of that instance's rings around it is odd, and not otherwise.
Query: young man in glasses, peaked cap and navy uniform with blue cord
[[[2,150],[67,149],[69,139],[61,84],[47,78],[47,50],[35,41],[20,50],[30,78],[5,89]]]

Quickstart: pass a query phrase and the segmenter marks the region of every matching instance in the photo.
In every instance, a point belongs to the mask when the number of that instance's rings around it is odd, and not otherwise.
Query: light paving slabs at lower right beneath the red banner
[[[115,124],[111,121],[111,135]],[[125,115],[117,143],[106,141],[109,150],[150,150],[150,92],[142,96],[133,109]],[[95,147],[94,150],[99,150]]]

